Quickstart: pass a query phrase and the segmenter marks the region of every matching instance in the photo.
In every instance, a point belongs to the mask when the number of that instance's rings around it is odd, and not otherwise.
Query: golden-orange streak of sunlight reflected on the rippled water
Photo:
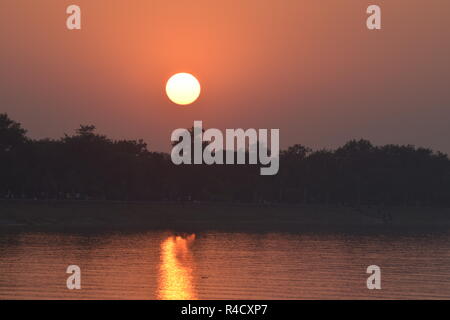
[[[196,300],[190,246],[195,234],[170,236],[161,244],[158,299]]]

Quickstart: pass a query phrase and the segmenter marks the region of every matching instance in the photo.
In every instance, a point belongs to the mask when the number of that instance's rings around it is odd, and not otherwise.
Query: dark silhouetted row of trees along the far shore
[[[112,140],[94,126],[35,140],[0,114],[0,199],[449,206],[450,161],[367,140],[335,150],[294,145],[268,177],[256,165],[176,166],[143,140]]]

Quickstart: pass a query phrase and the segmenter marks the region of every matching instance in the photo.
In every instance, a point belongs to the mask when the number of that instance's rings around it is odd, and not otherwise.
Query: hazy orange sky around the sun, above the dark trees
[[[66,7],[82,30],[66,29]],[[366,8],[382,8],[381,31]],[[450,2],[1,0],[0,112],[35,138],[95,124],[169,150],[171,132],[279,128],[282,147],[352,138],[450,152]],[[190,72],[202,96],[166,97]]]

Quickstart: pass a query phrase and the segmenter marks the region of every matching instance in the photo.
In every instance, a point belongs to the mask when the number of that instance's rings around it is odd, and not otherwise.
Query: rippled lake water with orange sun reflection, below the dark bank
[[[366,298],[449,299],[450,235],[0,234],[0,299]]]

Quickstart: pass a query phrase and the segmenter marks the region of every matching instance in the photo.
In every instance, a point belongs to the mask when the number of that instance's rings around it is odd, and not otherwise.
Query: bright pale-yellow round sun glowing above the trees
[[[166,84],[169,99],[179,105],[188,105],[200,96],[200,82],[190,73],[177,73]]]

